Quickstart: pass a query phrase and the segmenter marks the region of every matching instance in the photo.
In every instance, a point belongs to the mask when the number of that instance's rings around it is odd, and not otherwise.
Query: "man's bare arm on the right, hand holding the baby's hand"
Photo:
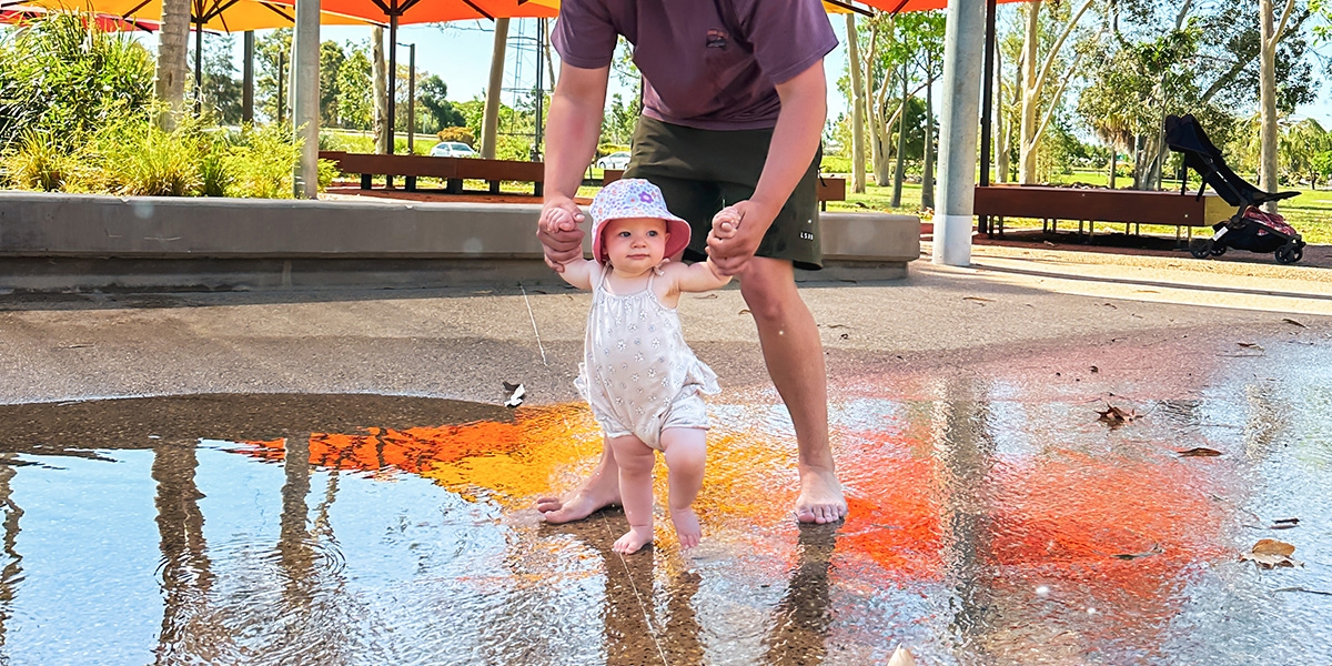
[[[715,233],[707,238],[709,256],[727,276],[739,273],[754,257],[767,228],[773,225],[818,152],[823,121],[827,119],[823,61],[819,60],[789,81],[778,84],[777,95],[782,99],[782,111],[773,131],[763,173],[754,188],[754,196],[735,204],[741,224],[731,238],[718,238]]]

